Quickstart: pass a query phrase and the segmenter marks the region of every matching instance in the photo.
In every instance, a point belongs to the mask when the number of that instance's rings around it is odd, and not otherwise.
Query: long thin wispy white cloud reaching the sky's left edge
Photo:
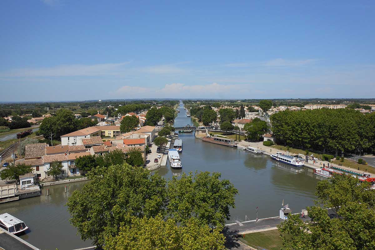
[[[124,63],[71,64],[44,68],[23,68],[0,72],[0,77],[46,77],[46,76],[99,76],[116,75],[123,69]]]

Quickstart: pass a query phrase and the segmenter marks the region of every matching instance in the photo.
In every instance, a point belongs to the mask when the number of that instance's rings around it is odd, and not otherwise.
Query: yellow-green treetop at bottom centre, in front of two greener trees
[[[173,219],[132,218],[116,237],[108,237],[105,250],[224,250],[222,227],[211,229],[191,218],[183,226]]]

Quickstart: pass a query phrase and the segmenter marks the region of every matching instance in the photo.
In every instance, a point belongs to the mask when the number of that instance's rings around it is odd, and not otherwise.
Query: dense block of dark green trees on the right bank
[[[375,113],[353,109],[282,111],[271,115],[273,134],[292,146],[335,152],[373,150]]]

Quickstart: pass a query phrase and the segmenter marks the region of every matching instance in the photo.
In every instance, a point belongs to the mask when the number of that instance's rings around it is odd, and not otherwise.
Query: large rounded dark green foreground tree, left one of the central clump
[[[105,239],[119,234],[120,225],[131,225],[136,217],[150,218],[164,213],[166,181],[127,163],[108,168],[98,166],[87,176],[90,181],[68,198],[70,222],[82,240],[105,245]]]

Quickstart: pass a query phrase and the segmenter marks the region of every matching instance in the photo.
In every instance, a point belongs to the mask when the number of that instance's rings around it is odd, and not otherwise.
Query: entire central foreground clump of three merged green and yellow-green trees
[[[167,183],[123,163],[87,176],[91,181],[67,203],[83,240],[106,250],[224,249],[221,231],[238,191],[219,173],[183,174]]]

